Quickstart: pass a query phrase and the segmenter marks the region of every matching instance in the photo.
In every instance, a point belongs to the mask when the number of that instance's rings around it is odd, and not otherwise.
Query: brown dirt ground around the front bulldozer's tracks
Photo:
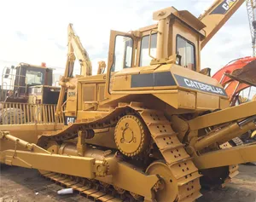
[[[37,170],[1,165],[0,202],[90,202],[79,194],[58,195],[61,187],[49,182]],[[256,166],[241,165],[240,174],[226,188],[206,191],[198,202],[256,202]]]

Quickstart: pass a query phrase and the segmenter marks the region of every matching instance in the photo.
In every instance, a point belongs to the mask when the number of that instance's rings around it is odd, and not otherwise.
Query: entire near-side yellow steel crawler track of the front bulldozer
[[[177,133],[172,130],[171,123],[165,117],[164,113],[157,110],[146,109],[145,107],[143,107],[142,103],[131,102],[131,104],[120,105],[112,113],[109,113],[109,115],[106,117],[99,118],[98,120],[91,120],[87,123],[84,122],[79,124],[73,124],[70,127],[56,133],[55,135],[52,134],[48,136],[43,136],[43,138],[44,141],[68,140],[77,136],[76,134],[78,130],[93,130],[106,128],[114,125],[118,122],[119,118],[124,116],[127,112],[133,114],[137,113],[137,115],[143,118],[143,121],[147,125],[155,144],[159,148],[160,153],[162,154],[163,158],[166,161],[166,164],[170,169],[170,173],[172,174],[174,179],[173,183],[177,184],[176,201],[195,201],[195,199],[201,197],[201,175],[195,167],[192,158],[190,158],[189,154],[185,151],[184,145],[178,140]],[[70,188],[72,188],[71,186],[74,186],[75,190],[78,190],[79,193],[86,194],[89,198],[92,197],[93,199],[99,201],[118,201],[115,198],[113,198],[114,200],[104,200],[105,198],[103,199],[102,197],[111,197],[107,194],[107,196],[102,195],[98,197],[98,195],[96,195],[97,192],[98,194],[101,194],[101,192],[97,190],[81,190],[81,187],[76,188],[77,185],[75,184],[75,182],[73,182],[74,184],[71,185],[70,182],[63,182],[63,180],[60,181],[59,178],[53,178],[53,176],[47,175],[46,177]],[[82,185],[79,184],[79,186]]]

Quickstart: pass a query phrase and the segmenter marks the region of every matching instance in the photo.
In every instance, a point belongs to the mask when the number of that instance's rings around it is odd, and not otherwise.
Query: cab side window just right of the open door
[[[156,56],[156,38],[157,34],[154,33],[151,35],[151,47],[150,55]],[[141,42],[141,53],[140,53],[140,65],[139,66],[149,66],[152,58],[148,55],[149,48],[149,35],[144,36]]]

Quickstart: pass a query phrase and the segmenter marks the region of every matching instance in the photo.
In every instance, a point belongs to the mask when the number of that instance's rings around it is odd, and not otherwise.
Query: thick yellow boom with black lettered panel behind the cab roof
[[[201,49],[244,2],[245,0],[216,0],[204,14],[201,14],[199,20],[207,26],[204,28],[206,38],[201,42]]]

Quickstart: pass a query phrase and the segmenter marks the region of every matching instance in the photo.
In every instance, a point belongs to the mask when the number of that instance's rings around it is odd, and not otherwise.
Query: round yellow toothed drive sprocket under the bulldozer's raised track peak
[[[150,136],[140,118],[125,115],[115,127],[114,141],[121,153],[134,157],[147,149]]]

